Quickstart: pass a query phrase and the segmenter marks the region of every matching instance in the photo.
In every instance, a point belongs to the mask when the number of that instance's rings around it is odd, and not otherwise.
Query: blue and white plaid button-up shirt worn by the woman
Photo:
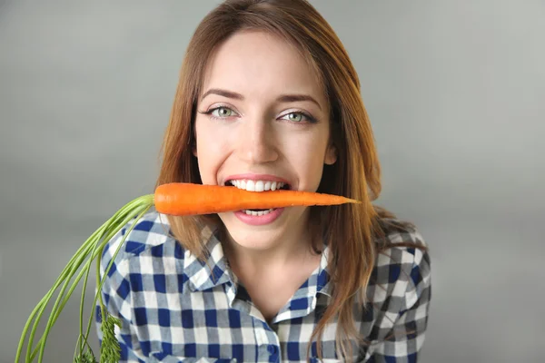
[[[399,221],[392,222],[387,231],[390,242],[424,243],[417,231],[403,230]],[[201,261],[169,236],[166,223],[157,212],[138,221],[105,280],[104,305],[122,320],[122,328],[116,327],[120,361],[340,361],[335,349],[336,322],[322,335],[322,360],[315,358],[315,342],[307,358],[312,330],[331,299],[327,247],[320,266],[268,324],[229,270],[213,231],[203,230],[211,253]],[[104,249],[101,276],[125,231]],[[353,361],[415,362],[431,298],[427,252],[400,246],[381,253],[366,294],[372,302],[354,318],[370,344],[353,343]]]

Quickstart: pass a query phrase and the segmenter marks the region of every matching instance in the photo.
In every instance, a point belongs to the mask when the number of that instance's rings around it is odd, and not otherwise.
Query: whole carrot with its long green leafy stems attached
[[[338,195],[329,195],[308,191],[243,191],[235,187],[201,185],[192,183],[166,183],[156,188],[154,194],[147,194],[134,199],[125,204],[117,211],[112,218],[105,221],[104,224],[84,241],[84,244],[77,250],[62,270],[60,276],[55,280],[54,285],[44,298],[35,306],[35,309],[27,319],[19,345],[15,355],[15,362],[18,362],[23,354],[25,340],[28,336],[25,362],[32,362],[36,356],[38,362],[42,362],[45,354],[45,343],[47,337],[59,318],[61,311],[72,296],[74,289],[84,279],[80,302],[79,326],[80,333],[77,337],[76,349],[74,352],[74,362],[96,362],[93,351],[91,350],[88,338],[91,325],[94,318],[94,306],[98,303],[101,310],[103,344],[101,346],[100,358],[98,361],[117,361],[119,359],[119,344],[114,337],[114,326],[119,325],[120,321],[110,316],[104,306],[102,295],[100,293],[104,284],[104,279],[108,275],[108,270],[112,266],[106,267],[103,278],[100,279],[100,258],[104,247],[109,240],[121,231],[130,222],[130,228],[124,233],[124,237],[114,252],[112,261],[117,253],[123,248],[125,239],[134,229],[136,223],[144,216],[150,208],[155,206],[158,212],[171,215],[190,215],[190,214],[210,214],[223,211],[240,211],[244,209],[270,209],[282,208],[295,205],[335,205],[342,203],[360,203],[352,199],[344,198]],[[87,285],[87,278],[91,270],[93,261],[96,263],[96,281],[97,291],[94,295],[94,304],[87,327],[84,329],[84,295]],[[74,280],[73,280],[74,279]],[[59,289],[57,298],[54,299],[55,291]],[[45,331],[42,337],[35,343],[36,330],[40,326],[40,320],[44,316],[45,308],[49,302],[54,299],[54,305],[45,324]]]

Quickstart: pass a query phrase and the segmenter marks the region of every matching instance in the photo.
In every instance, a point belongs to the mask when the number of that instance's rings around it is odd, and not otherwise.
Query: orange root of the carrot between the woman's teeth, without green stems
[[[244,191],[231,186],[173,182],[154,194],[155,210],[170,215],[212,214],[292,207],[361,203],[339,195],[311,191]]]

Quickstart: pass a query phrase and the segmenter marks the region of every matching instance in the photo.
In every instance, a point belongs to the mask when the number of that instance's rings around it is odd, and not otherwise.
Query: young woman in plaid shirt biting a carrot
[[[358,76],[312,5],[233,0],[203,19],[164,137],[166,182],[362,204],[147,214],[102,290],[121,361],[416,361],[430,258],[411,224],[372,205],[380,166]]]

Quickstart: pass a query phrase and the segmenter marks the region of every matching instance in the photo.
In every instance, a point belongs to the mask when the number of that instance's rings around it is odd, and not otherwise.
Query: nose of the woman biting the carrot
[[[262,120],[243,124],[239,134],[238,153],[244,162],[263,163],[278,159],[271,127]]]

